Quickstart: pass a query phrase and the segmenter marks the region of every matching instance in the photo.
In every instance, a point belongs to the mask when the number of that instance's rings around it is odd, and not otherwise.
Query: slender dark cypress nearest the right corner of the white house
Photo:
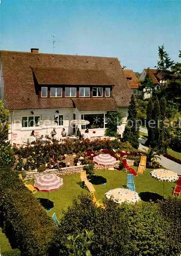
[[[123,132],[123,141],[129,141],[133,147],[139,147],[139,127],[137,120],[137,110],[136,110],[136,99],[132,94],[130,105],[128,107],[128,123],[125,126]]]

